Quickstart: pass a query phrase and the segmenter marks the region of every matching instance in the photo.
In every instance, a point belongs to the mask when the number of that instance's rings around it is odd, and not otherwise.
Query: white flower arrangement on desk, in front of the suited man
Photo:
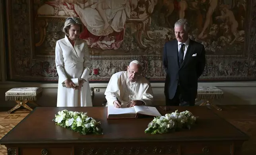
[[[180,113],[176,110],[173,113],[167,113],[164,116],[155,117],[153,121],[148,124],[145,133],[163,134],[177,131],[182,128],[190,129],[190,127],[196,122],[197,118],[198,117],[195,117],[187,110]]]

